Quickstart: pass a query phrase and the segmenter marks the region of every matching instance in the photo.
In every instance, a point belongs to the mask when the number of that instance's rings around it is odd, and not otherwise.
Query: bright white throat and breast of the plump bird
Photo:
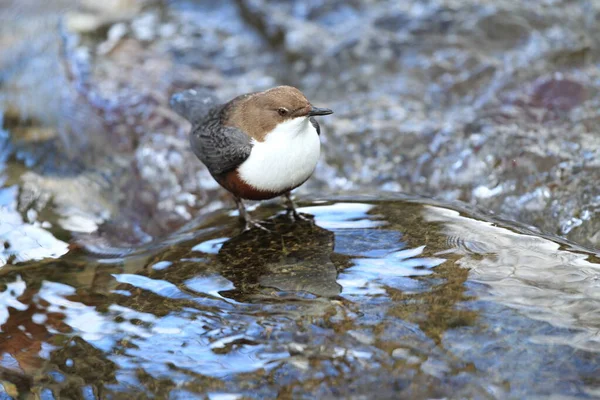
[[[321,152],[317,130],[307,117],[283,122],[262,142],[255,142],[250,157],[238,168],[249,185],[282,192],[307,180]]]

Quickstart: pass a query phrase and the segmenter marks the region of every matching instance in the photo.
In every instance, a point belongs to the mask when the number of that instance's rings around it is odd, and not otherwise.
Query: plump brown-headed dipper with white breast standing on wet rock
[[[235,198],[246,229],[256,226],[242,199],[285,196],[288,210],[304,219],[290,191],[312,175],[321,152],[317,115],[332,114],[313,107],[295,87],[278,86],[248,93],[219,104],[206,89],[171,97],[171,107],[192,124],[192,151],[213,178]]]

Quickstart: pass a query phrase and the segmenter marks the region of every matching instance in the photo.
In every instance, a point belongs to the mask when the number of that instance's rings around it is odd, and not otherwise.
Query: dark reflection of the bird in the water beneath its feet
[[[271,233],[243,232],[219,250],[221,274],[235,289],[221,292],[247,301],[265,288],[280,292],[335,297],[342,291],[332,262],[335,235],[310,223],[290,223],[285,216],[271,220]]]

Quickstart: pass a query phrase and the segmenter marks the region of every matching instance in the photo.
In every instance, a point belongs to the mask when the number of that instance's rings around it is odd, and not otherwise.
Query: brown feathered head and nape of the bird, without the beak
[[[224,125],[241,129],[262,142],[277,124],[305,116],[310,109],[310,102],[300,90],[292,86],[277,86],[231,100],[222,122]]]

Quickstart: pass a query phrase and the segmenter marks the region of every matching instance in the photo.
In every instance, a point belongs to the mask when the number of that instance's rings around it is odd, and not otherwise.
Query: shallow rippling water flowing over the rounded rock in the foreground
[[[600,395],[595,255],[431,203],[303,206],[315,225],[278,214],[273,233],[239,234],[234,215],[215,212],[123,258],[71,252],[0,270],[4,389]]]

